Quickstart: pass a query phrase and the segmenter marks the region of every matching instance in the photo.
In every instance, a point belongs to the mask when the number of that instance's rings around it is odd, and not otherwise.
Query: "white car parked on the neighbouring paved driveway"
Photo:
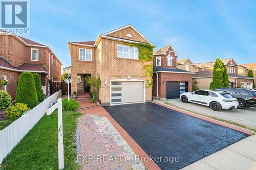
[[[183,103],[197,103],[209,106],[214,111],[221,109],[234,109],[239,106],[238,100],[225,91],[197,90],[180,94]]]

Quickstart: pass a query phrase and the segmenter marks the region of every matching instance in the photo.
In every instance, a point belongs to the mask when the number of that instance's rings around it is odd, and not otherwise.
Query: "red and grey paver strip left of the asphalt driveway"
[[[108,118],[85,114],[77,128],[77,161],[82,169],[145,169]]]

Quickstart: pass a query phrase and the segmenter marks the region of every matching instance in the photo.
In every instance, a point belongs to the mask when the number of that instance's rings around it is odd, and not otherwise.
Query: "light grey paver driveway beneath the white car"
[[[182,103],[179,99],[167,100],[166,102],[169,102],[175,106],[192,112],[198,112],[207,116],[214,116],[217,118],[229,120],[231,122],[239,123],[241,125],[245,125],[247,127],[256,129],[256,108],[245,108],[243,110],[221,110],[219,112],[216,112],[211,110],[207,106],[194,103]]]

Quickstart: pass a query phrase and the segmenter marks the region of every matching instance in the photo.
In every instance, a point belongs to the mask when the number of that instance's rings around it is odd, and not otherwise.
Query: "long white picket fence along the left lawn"
[[[35,126],[40,118],[45,115],[47,109],[56,102],[59,93],[61,93],[61,90],[49,96],[44,102],[41,102],[32,110],[15,120],[8,127],[0,131],[0,164],[18,142]],[[44,129],[42,129],[42,131],[44,131]]]

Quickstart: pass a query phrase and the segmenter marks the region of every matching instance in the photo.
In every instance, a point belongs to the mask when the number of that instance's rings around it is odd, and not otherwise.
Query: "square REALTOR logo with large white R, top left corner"
[[[29,32],[29,2],[27,0],[1,1],[1,32],[26,34]]]

